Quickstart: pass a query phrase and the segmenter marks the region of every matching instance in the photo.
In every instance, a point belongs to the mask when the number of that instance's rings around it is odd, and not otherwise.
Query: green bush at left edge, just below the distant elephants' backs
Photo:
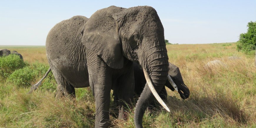
[[[28,65],[19,55],[10,54],[9,56],[0,57],[0,77],[6,78],[17,69],[21,69]]]

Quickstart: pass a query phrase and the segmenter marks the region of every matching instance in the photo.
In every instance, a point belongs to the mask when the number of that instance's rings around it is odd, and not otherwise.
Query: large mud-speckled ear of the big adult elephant
[[[109,8],[95,12],[84,24],[82,43],[93,51],[111,68],[121,69],[124,65],[122,45],[118,36],[117,14]]]

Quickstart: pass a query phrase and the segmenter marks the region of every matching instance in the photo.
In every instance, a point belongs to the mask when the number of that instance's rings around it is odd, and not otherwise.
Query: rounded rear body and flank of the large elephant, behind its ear
[[[46,56],[51,68],[57,69],[74,87],[87,82],[85,47],[81,43],[82,28],[88,18],[73,16],[56,24],[46,38]],[[53,69],[54,69],[53,68]]]

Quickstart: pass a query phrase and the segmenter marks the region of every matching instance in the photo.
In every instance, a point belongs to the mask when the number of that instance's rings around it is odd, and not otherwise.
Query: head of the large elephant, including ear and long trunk
[[[129,61],[142,66],[157,93],[168,75],[168,56],[164,28],[154,8],[110,6],[95,12],[84,24],[82,43],[111,68],[121,69]],[[151,83],[152,81],[152,83]],[[134,112],[136,127],[142,127],[142,117],[154,99],[145,86]]]

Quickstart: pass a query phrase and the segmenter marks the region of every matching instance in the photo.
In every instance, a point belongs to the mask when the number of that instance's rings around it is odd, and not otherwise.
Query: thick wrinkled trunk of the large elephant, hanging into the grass
[[[165,48],[165,47],[164,47]],[[166,48],[165,48],[166,50]],[[168,56],[167,52],[165,50],[162,51],[155,51],[153,54],[148,56],[148,66],[146,66],[145,63],[142,63],[141,66],[144,70],[144,72],[149,72],[149,77],[152,81],[152,85],[154,86],[154,89],[157,93],[159,93],[164,84],[167,80],[168,75]],[[147,77],[147,76],[145,76]],[[154,95],[152,91],[150,90],[148,83],[145,85],[144,90],[142,91],[142,94],[140,95],[135,111],[134,111],[134,124],[135,127],[142,127],[142,118],[144,115],[145,110],[149,106],[149,104],[153,101]]]

